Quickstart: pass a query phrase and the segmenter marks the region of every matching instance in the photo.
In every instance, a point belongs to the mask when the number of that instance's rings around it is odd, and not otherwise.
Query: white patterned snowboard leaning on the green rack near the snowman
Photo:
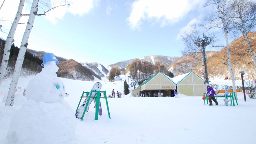
[[[91,89],[91,91],[100,91],[100,88],[102,87],[101,83],[100,82],[96,82],[93,86],[93,88]],[[89,93],[88,96],[91,95],[91,92]],[[86,97],[86,99],[84,100],[84,102],[82,103],[82,105],[80,106],[80,108],[77,110],[77,112],[75,112],[75,117],[78,118],[78,119],[81,119],[82,118],[82,115],[84,113],[84,109],[85,109],[85,106],[88,103],[88,106],[86,108],[86,111],[89,110],[89,106],[91,104],[91,102],[93,101],[93,97],[97,97],[97,93],[93,92],[92,95],[91,95],[91,99],[90,101],[89,100],[89,97]]]

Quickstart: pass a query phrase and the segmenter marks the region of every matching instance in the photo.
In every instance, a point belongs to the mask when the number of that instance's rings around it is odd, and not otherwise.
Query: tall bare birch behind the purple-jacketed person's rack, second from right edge
[[[223,64],[226,64],[229,66],[229,71],[231,74],[232,84],[233,84],[233,91],[235,92],[235,96],[237,99],[237,92],[236,92],[236,86],[235,86],[235,77],[231,65],[231,58],[230,58],[230,49],[229,49],[229,39],[228,34],[233,30],[232,21],[235,17],[235,14],[232,11],[232,4],[231,0],[208,0],[207,5],[214,5],[215,9],[212,12],[212,15],[207,17],[207,24],[211,25],[216,28],[222,29],[224,32],[224,37],[226,41],[226,49],[227,49],[227,57],[228,62],[224,62]]]

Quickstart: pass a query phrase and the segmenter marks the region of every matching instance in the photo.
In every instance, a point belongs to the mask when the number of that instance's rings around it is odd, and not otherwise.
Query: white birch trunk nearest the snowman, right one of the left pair
[[[15,64],[15,68],[14,68],[14,73],[12,76],[12,81],[11,81],[11,85],[9,88],[9,92],[8,92],[8,96],[6,99],[6,103],[5,106],[12,106],[13,105],[13,100],[14,100],[14,96],[15,96],[15,90],[17,87],[17,83],[19,80],[19,74],[21,71],[21,67],[24,61],[24,57],[25,57],[25,53],[27,50],[27,45],[28,45],[28,38],[30,35],[30,32],[32,30],[33,24],[34,24],[34,20],[36,18],[36,14],[38,11],[38,0],[33,0],[32,6],[31,6],[31,10],[30,10],[30,15],[29,15],[29,19],[27,22],[27,27],[25,29],[25,32],[23,34],[23,38],[21,41],[21,48],[19,51],[19,55]]]

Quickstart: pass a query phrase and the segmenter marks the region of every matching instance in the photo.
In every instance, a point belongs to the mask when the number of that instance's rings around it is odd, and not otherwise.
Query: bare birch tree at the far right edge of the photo
[[[256,25],[256,3],[248,0],[234,0],[233,11],[236,13],[236,17],[232,23],[235,26],[236,32],[242,34],[242,37],[244,37],[244,40],[248,44],[256,69],[256,58],[248,36],[248,33],[251,32]]]

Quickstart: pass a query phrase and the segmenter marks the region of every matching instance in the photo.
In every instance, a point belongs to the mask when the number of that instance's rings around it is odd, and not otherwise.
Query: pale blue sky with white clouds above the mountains
[[[29,14],[31,1],[26,0],[22,14]],[[185,45],[179,33],[209,13],[209,8],[202,8],[205,1],[73,0],[70,6],[36,16],[27,48],[104,66],[151,55],[182,56]],[[18,5],[19,1],[12,0],[3,4],[0,38],[6,39]],[[42,12],[39,8],[38,14]],[[27,19],[23,16],[20,23]],[[17,27],[14,44],[18,47],[25,26]]]

